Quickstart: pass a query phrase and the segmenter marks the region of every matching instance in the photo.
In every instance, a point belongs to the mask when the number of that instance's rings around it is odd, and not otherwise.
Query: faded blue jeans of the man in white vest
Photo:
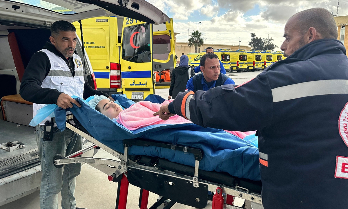
[[[43,125],[36,126],[35,134],[42,169],[40,208],[58,209],[58,193],[61,192],[62,209],[76,209],[74,192],[81,163],[67,164],[58,169],[53,165],[53,157],[56,154],[68,156],[80,150],[82,137],[70,129],[60,132],[54,127],[53,140],[43,141]]]

